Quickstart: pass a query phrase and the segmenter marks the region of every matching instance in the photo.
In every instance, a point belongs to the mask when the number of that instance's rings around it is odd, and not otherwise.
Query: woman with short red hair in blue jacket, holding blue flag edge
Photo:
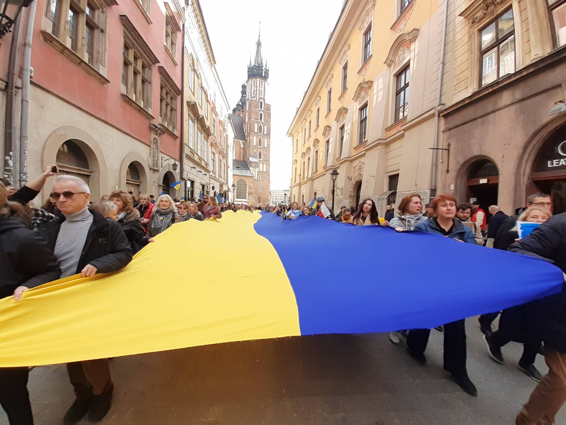
[[[451,195],[438,195],[432,201],[434,216],[417,224],[415,230],[448,237],[454,241],[475,245],[474,233],[456,219],[456,199]],[[424,350],[428,343],[430,329],[413,329],[407,338],[410,355],[419,363],[425,363]],[[477,396],[478,390],[468,377],[466,369],[466,325],[465,319],[444,325],[444,369],[470,396]]]

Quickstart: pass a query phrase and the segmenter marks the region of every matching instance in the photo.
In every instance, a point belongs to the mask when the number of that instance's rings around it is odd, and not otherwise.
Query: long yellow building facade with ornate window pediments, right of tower
[[[454,89],[446,1],[345,2],[288,130],[291,200],[330,206],[333,169],[336,209],[372,198],[383,214],[404,194],[434,193],[437,111]]]

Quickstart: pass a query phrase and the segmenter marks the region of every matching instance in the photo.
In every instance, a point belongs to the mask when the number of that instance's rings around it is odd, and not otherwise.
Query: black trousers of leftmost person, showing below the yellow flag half
[[[11,425],[33,425],[27,367],[0,368],[0,405]]]

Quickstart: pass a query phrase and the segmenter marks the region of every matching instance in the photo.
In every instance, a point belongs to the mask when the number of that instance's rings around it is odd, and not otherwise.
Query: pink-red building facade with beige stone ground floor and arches
[[[10,99],[10,91],[3,91],[0,100],[2,108],[16,106],[2,114],[4,133],[11,132],[2,146],[3,174],[18,186],[18,175],[23,184],[26,174],[33,178],[44,164],[57,163],[62,173],[87,181],[93,199],[117,188],[136,195],[173,190],[170,184],[180,178],[184,5],[163,0],[35,5],[21,15],[14,66],[15,86],[22,87],[30,22],[31,84]],[[10,84],[11,37],[0,48],[2,86]],[[22,111],[27,124],[20,121],[20,104],[29,105],[28,113]],[[40,201],[49,189],[50,182]]]

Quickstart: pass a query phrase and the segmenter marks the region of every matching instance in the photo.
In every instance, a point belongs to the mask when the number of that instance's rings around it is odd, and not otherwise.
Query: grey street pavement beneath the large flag
[[[487,355],[477,320],[468,320],[470,397],[442,370],[442,335],[433,331],[427,366],[385,334],[322,335],[197,347],[112,360],[115,392],[102,423],[113,425],[512,425],[535,386]],[[546,373],[542,356],[537,367]],[[59,425],[73,401],[63,366],[40,367],[29,389],[36,425]],[[559,414],[557,423],[566,415]],[[87,422],[84,422],[87,423]],[[7,424],[0,414],[0,424]]]

